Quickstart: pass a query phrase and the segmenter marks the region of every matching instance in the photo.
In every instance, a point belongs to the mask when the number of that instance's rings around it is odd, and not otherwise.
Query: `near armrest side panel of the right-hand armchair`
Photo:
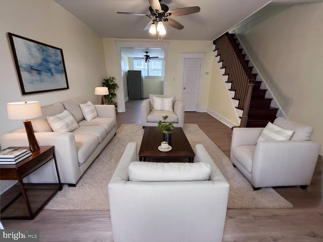
[[[276,183],[272,186],[289,186],[288,182],[290,186],[309,185],[320,147],[320,143],[312,140],[259,141],[252,165],[254,186],[261,187],[261,183],[268,181]]]

